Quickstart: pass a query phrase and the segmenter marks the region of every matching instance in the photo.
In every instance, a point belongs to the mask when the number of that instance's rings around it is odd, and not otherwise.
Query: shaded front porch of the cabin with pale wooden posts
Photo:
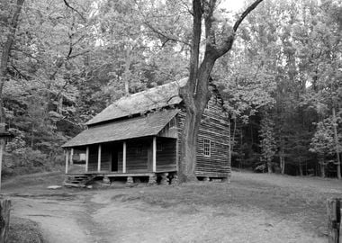
[[[175,173],[176,141],[153,136],[66,148],[66,174],[121,177]]]

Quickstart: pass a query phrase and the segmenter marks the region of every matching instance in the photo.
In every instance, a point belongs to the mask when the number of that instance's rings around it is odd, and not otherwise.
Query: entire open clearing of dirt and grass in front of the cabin
[[[231,184],[46,189],[62,175],[4,183],[12,215],[40,224],[44,242],[326,242],[327,197],[342,182],[236,172]]]

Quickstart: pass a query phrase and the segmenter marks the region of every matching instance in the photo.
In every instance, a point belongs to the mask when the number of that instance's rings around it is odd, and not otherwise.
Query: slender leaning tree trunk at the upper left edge
[[[24,0],[17,0],[16,8],[14,11],[14,15],[12,17],[12,21],[9,24],[9,32],[6,36],[6,41],[4,42],[3,53],[1,56],[0,63],[0,122],[4,123],[5,121],[5,113],[4,113],[4,82],[7,80],[7,65],[11,54],[11,49],[14,44],[15,31],[17,30],[19,23],[19,15],[22,12]]]

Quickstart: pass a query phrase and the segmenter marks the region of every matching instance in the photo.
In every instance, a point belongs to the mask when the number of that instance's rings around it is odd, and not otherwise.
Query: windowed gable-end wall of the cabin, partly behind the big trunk
[[[178,134],[181,137],[184,128],[185,112],[178,113]],[[211,156],[203,154],[203,139],[211,140]],[[179,149],[181,141],[178,140]],[[197,176],[228,177],[229,165],[229,122],[222,112],[220,100],[215,96],[211,97],[202,115],[200,130],[197,139],[197,163],[195,174]],[[180,157],[180,151],[179,151]]]

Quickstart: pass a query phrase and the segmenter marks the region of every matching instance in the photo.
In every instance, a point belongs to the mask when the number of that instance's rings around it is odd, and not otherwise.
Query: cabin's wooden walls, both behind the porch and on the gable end
[[[157,143],[163,145],[157,151],[157,172],[177,170],[176,161],[180,159],[181,137],[184,127],[185,112],[181,110],[176,116],[176,124],[169,125],[157,137]],[[178,134],[171,132],[177,130]],[[160,137],[161,136],[161,137]],[[165,137],[173,137],[165,138]],[[210,139],[211,155],[204,155],[204,139]],[[178,143],[178,144],[177,144]],[[178,152],[176,151],[178,147]],[[152,138],[132,139],[126,141],[126,172],[152,171]],[[112,170],[112,150],[117,150],[118,172],[122,171],[122,142],[102,145],[101,171]],[[178,155],[178,159],[176,157]],[[88,171],[97,171],[98,145],[89,146]],[[208,107],[204,110],[197,140],[197,176],[228,177],[229,165],[229,123],[222,112],[220,100],[211,97]]]

